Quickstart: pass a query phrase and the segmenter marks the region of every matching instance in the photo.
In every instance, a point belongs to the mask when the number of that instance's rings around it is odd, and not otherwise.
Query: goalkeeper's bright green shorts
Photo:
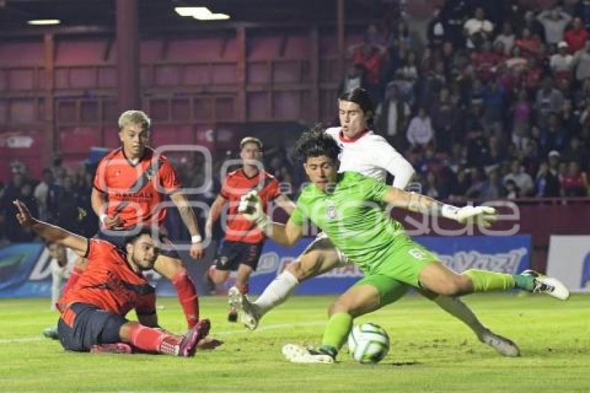
[[[357,285],[371,285],[379,292],[380,306],[400,299],[410,286],[422,288],[422,270],[438,258],[407,236],[396,238],[385,260],[377,269],[366,273]]]

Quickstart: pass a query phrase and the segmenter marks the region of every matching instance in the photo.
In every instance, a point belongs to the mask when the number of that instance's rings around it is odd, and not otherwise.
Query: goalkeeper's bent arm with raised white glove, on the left
[[[283,246],[293,246],[303,236],[303,227],[295,224],[291,219],[286,225],[271,221],[262,211],[262,203],[255,191],[242,196],[237,211],[253,221],[268,237]]]

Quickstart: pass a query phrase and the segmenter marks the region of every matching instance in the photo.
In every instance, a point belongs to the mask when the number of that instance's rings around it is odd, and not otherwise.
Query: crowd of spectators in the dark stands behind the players
[[[428,21],[427,42],[403,12],[393,12],[348,48],[339,92],[361,86],[371,93],[373,129],[414,165],[423,194],[450,201],[589,195],[590,1],[537,7],[447,0]],[[265,160],[296,194],[305,179],[288,149],[269,147]],[[214,176],[223,161],[214,163]],[[174,165],[187,187],[205,182],[198,156]],[[14,167],[0,185],[0,242],[33,238],[10,222],[14,199],[41,219],[96,233],[92,170],[81,164],[71,171],[56,157],[35,181]],[[220,184],[214,177],[210,191],[192,198],[210,204]],[[183,239],[187,233],[172,224],[177,215],[169,214],[171,237]]]

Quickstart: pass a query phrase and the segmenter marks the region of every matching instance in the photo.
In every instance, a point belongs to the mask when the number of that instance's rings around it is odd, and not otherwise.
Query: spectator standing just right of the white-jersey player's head
[[[405,145],[404,133],[410,119],[410,106],[399,97],[398,87],[393,83],[387,85],[385,99],[375,111],[377,129],[396,149]]]

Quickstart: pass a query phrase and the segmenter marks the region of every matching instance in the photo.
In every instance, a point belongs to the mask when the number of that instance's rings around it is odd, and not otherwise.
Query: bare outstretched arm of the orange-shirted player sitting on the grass
[[[85,237],[66,231],[59,226],[35,219],[22,201],[16,200],[13,203],[19,210],[17,213],[19,224],[25,228],[31,228],[48,242],[63,244],[74,250],[79,256],[85,256],[88,248],[88,240]]]

